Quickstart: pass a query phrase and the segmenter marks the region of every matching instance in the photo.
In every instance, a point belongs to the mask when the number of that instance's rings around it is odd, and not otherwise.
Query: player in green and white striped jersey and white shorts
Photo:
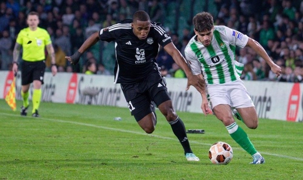
[[[255,105],[237,73],[235,48],[252,48],[277,76],[280,75],[281,68],[254,39],[226,26],[215,26],[213,17],[208,12],[195,15],[193,25],[195,36],[186,46],[185,56],[192,73],[204,78],[206,82],[207,96],[202,94],[203,113],[208,114],[212,109],[235,142],[253,157],[251,164],[263,164],[264,158],[244,130],[237,125],[231,112],[231,108],[235,108],[248,128],[258,127]]]

